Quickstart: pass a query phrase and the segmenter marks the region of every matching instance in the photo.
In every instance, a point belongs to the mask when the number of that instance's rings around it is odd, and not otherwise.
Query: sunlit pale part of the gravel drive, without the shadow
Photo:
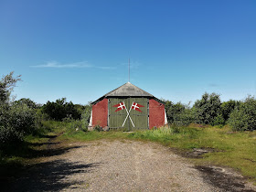
[[[90,173],[69,176],[91,191],[216,191],[196,169],[167,148],[141,142],[98,142],[67,155],[69,161],[98,164]],[[79,159],[76,158],[79,156]]]

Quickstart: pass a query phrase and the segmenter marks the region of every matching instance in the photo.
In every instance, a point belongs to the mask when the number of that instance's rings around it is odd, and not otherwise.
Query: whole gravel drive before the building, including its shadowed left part
[[[102,140],[53,151],[8,191],[227,191],[160,144]]]

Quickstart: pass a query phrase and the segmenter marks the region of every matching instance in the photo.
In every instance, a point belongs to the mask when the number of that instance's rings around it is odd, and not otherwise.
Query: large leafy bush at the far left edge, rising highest
[[[14,78],[13,73],[0,80],[0,150],[15,146],[35,129],[35,110],[11,101],[11,92],[20,80],[20,76]]]

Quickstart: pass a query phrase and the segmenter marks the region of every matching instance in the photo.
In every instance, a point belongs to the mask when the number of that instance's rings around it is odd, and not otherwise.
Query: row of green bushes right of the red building
[[[200,123],[220,127],[229,124],[233,131],[256,130],[256,99],[251,96],[244,101],[221,102],[219,94],[206,92],[192,107],[165,101],[165,110],[170,124]]]

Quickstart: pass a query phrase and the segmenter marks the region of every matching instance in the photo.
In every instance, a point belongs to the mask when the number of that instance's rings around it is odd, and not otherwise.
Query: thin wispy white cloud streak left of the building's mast
[[[93,66],[89,64],[87,61],[82,61],[82,62],[76,62],[76,63],[68,63],[68,64],[61,64],[57,61],[49,61],[46,64],[43,65],[35,65],[35,66],[30,66],[30,68],[57,68],[57,69],[74,69],[74,68],[96,68],[96,69],[115,69],[113,67],[98,67],[98,66]]]

